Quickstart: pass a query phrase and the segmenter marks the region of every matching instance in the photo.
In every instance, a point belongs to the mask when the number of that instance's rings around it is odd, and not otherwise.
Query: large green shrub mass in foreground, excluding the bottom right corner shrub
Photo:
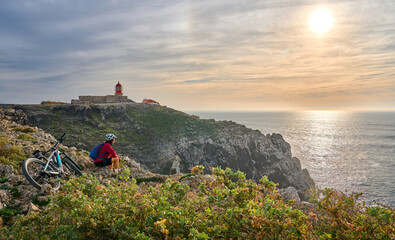
[[[136,180],[100,185],[69,180],[47,208],[21,217],[5,236],[37,239],[256,239],[308,237],[306,217],[274,189],[241,172],[216,169],[197,193],[167,180],[141,192]],[[236,182],[231,179],[237,178]]]

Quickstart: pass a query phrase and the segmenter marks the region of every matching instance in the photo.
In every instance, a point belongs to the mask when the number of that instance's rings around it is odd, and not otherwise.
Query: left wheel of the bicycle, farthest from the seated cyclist
[[[53,176],[44,171],[45,162],[37,158],[28,158],[22,164],[22,172],[27,181],[35,188],[41,190],[44,184],[50,184],[53,190],[58,190],[60,182],[57,176]],[[48,171],[55,171],[51,166],[48,166]]]

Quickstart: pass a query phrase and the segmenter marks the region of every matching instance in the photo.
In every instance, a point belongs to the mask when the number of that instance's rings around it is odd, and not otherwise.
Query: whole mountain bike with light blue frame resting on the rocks
[[[26,179],[35,188],[41,190],[44,184],[50,184],[53,190],[60,187],[59,179],[68,179],[70,176],[82,175],[82,168],[71,159],[65,152],[57,149],[59,143],[63,142],[64,133],[57,142],[46,152],[36,150],[34,158],[26,159],[22,164],[22,172]],[[49,153],[49,156],[45,155]],[[63,158],[60,156],[63,155]]]

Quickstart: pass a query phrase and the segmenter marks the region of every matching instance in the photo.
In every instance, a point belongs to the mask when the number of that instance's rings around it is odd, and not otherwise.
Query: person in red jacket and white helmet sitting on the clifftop
[[[98,167],[108,166],[111,171],[114,169],[114,172],[118,174],[119,157],[112,147],[116,138],[112,133],[106,135],[106,142],[99,151],[99,155],[94,160],[94,163]]]

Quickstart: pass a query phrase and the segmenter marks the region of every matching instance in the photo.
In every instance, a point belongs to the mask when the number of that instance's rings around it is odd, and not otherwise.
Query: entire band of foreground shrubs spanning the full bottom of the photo
[[[199,169],[198,169],[199,170]],[[359,195],[317,193],[304,213],[276,185],[213,169],[199,189],[167,180],[143,190],[130,171],[101,185],[84,175],[64,184],[42,212],[0,230],[5,239],[393,239],[395,210],[357,203]],[[10,214],[12,215],[12,214]]]

